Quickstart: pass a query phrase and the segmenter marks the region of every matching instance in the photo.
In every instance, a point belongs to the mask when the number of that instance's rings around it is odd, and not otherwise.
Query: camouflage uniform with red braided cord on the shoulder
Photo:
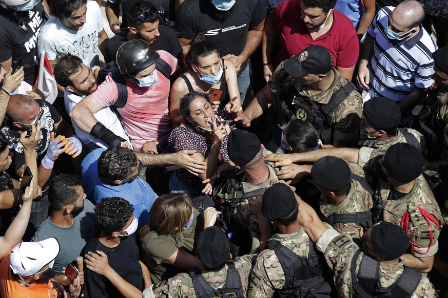
[[[376,191],[376,200],[383,204],[383,220],[400,224],[405,211],[409,211],[408,236],[412,243],[420,246],[418,249],[420,253],[416,248],[411,249],[412,255],[416,258],[434,256],[439,248],[437,239],[441,230],[442,215],[440,214],[439,205],[423,175],[416,179],[411,191],[398,200],[387,200],[391,187],[392,185],[389,182],[382,181]],[[417,207],[426,210],[432,215],[440,223],[440,228],[433,222],[428,224]],[[431,233],[432,242],[430,239]],[[425,253],[426,250],[428,250],[427,253]]]

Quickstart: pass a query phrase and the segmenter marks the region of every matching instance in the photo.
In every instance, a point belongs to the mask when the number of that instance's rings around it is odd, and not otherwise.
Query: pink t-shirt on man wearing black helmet
[[[166,51],[157,51],[171,67],[171,74],[177,69],[178,59]],[[168,97],[170,81],[160,72],[151,87],[139,87],[125,78],[128,91],[126,105],[118,113],[126,127],[134,148],[140,148],[146,141],[158,144],[171,131]],[[93,98],[103,107],[113,105],[118,100],[118,90],[112,75],[93,92]]]

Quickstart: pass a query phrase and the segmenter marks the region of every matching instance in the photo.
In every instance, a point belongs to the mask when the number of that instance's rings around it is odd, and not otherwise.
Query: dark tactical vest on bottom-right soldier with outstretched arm
[[[357,250],[352,258],[350,271],[355,298],[410,298],[421,280],[421,273],[411,267],[404,267],[398,280],[388,288],[379,287],[380,264],[372,258],[362,256],[356,275],[356,261],[361,250]]]

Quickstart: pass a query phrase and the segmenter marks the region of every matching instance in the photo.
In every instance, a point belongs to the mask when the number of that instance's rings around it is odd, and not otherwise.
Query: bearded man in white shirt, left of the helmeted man
[[[54,77],[56,82],[64,87],[64,103],[67,113],[74,108],[84,97],[92,94],[98,87],[96,77],[100,67],[94,66],[89,69],[81,60],[81,58],[63,54],[57,58],[54,64]],[[107,129],[114,132],[117,136],[125,139],[129,144],[129,137],[123,129],[123,125],[112,112],[109,107],[105,107],[93,115],[98,121],[104,124]],[[90,150],[102,147],[107,149],[109,146],[92,136],[91,134],[81,130],[72,120],[73,128],[81,142]]]

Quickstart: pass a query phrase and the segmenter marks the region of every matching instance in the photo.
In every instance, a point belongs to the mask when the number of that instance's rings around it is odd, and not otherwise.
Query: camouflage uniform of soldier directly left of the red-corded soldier
[[[353,174],[364,177],[364,172],[359,165],[348,163]],[[366,212],[373,208],[372,195],[362,187],[361,183],[352,179],[350,190],[345,199],[338,204],[329,203],[329,199],[324,195],[320,199],[320,211],[325,217],[331,214],[355,214],[356,212]],[[350,236],[360,245],[359,231],[362,227],[356,223],[336,223],[333,227],[340,233]]]

